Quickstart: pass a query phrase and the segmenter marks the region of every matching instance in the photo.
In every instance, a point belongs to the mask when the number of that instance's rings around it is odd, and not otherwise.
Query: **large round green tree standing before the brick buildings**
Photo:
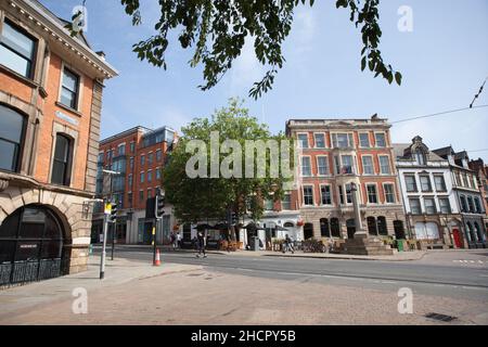
[[[254,220],[258,220],[264,213],[262,200],[281,200],[285,189],[284,183],[293,180],[291,177],[284,178],[282,170],[279,170],[278,176],[270,175],[273,163],[269,150],[266,152],[265,162],[259,163],[257,155],[253,158],[254,177],[245,175],[246,140],[275,140],[277,143],[282,143],[282,140],[290,140],[281,133],[272,136],[266,125],[259,124],[255,117],[249,116],[248,110],[244,108],[239,100],[230,100],[229,105],[216,111],[210,119],[194,119],[181,131],[182,134],[178,144],[170,154],[169,163],[162,175],[166,200],[172,204],[175,216],[181,222],[206,221],[208,219],[224,221],[229,210],[237,216],[248,214]],[[222,172],[219,172],[218,178],[210,178],[213,155],[210,153],[210,134],[216,131],[219,134],[219,146],[226,140],[235,140],[240,145],[240,150],[232,149],[220,155],[217,153],[219,167],[224,160],[237,155],[242,158],[242,177],[237,177],[239,175],[224,177]],[[200,146],[197,150],[189,145],[195,143],[195,140],[201,140],[204,146]],[[287,145],[286,142],[283,143]],[[286,159],[290,159],[288,167],[293,168],[293,143],[290,142],[287,146],[290,156]],[[202,151],[206,151],[205,166],[207,169],[205,172],[207,177],[192,178],[187,170],[188,163]],[[257,151],[253,153],[257,154]],[[214,154],[216,153],[214,152]],[[277,158],[274,157],[274,159]],[[286,159],[280,157],[279,165],[281,166],[282,160],[286,163]],[[192,164],[191,167],[198,168],[198,165]],[[229,167],[234,172],[240,169],[236,163],[231,163]],[[258,168],[264,168],[266,174],[264,177],[259,177]]]

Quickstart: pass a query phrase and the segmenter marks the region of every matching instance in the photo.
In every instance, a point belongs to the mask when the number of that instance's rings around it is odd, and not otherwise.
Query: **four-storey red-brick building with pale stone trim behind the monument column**
[[[371,119],[291,119],[286,134],[298,142],[296,183],[304,239],[352,237],[351,183],[358,187],[363,226],[371,235],[404,237],[390,125]]]

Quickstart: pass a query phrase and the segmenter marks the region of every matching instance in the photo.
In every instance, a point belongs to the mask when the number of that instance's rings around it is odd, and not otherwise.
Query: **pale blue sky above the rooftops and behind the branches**
[[[41,0],[56,15],[69,18],[81,0]],[[245,105],[274,132],[288,118],[362,118],[377,113],[395,121],[470,105],[488,76],[488,1],[387,0],[380,8],[384,60],[403,74],[401,87],[360,70],[361,40],[346,10],[335,0],[299,7],[284,46],[286,64],[273,90],[255,101],[247,98],[265,67],[244,49],[220,85],[203,92],[202,69],[187,64],[191,52],[171,42],[168,70],[140,62],[131,46],[153,33],[157,0],[142,3],[143,25],[131,18],[118,0],[87,0],[87,36],[103,50],[120,76],[106,82],[102,137],[136,125],[179,129],[193,117],[207,117],[231,97]],[[402,33],[398,9],[412,9],[413,30]],[[488,83],[477,105],[488,104]],[[431,149],[488,149],[488,107],[394,125],[394,142],[420,134]],[[488,159],[488,151],[470,153]]]

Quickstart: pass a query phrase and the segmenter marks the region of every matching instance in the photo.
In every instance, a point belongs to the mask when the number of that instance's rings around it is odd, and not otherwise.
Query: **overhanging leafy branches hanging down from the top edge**
[[[378,44],[380,0],[334,0],[337,8],[347,9],[361,34],[361,69],[367,67],[389,83],[401,83],[401,74],[383,61]],[[142,22],[140,0],[120,0],[133,25]],[[183,49],[193,48],[192,67],[203,65],[207,90],[218,83],[241,55],[246,40],[254,43],[257,60],[268,67],[262,80],[254,83],[249,95],[260,97],[272,88],[285,59],[282,44],[292,29],[298,5],[314,0],[159,0],[160,17],[154,24],[155,34],[133,46],[141,60],[166,69],[166,52],[171,31],[179,31]]]

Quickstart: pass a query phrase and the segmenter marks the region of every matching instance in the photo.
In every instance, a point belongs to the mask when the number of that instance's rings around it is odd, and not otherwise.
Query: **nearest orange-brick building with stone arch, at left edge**
[[[0,285],[87,268],[102,91],[117,72],[35,0],[0,2]]]

